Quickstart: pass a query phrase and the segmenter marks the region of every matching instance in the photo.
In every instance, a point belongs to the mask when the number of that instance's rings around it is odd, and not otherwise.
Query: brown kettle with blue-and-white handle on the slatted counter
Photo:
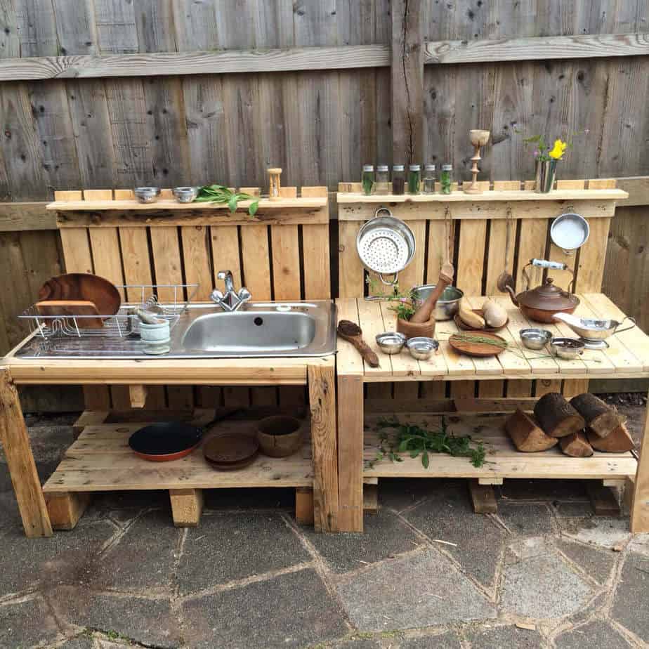
[[[569,291],[564,291],[554,285],[552,277],[547,277],[541,286],[537,286],[530,291],[530,277],[525,272],[527,266],[536,266],[537,268],[553,268],[555,270],[572,270],[565,263],[558,261],[546,261],[545,259],[531,259],[525,268],[523,268],[523,277],[525,278],[527,290],[516,295],[511,286],[504,287],[509,293],[511,301],[520,308],[520,312],[530,320],[535,322],[556,322],[554,314],[572,313],[579,306],[579,298]],[[570,284],[574,284],[573,278]],[[570,289],[570,285],[568,287]]]

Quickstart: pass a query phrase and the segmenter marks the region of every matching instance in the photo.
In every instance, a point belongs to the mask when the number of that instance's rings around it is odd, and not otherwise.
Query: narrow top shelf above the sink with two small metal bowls
[[[327,206],[326,197],[299,197],[281,198],[272,201],[268,198],[260,198],[259,209],[301,209],[305,207],[317,208]],[[237,209],[248,209],[253,201],[241,201]],[[224,210],[228,209],[225,203],[179,203],[174,199],[159,199],[155,203],[140,203],[136,200],[86,200],[86,201],[54,201],[46,205],[46,209],[54,211],[110,211],[110,210],[138,210],[138,211],[160,211],[160,210]]]

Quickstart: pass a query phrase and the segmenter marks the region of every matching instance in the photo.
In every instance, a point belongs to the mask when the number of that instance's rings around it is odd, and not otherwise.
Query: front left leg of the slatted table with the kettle
[[[341,532],[363,531],[363,380],[338,377],[338,476]]]

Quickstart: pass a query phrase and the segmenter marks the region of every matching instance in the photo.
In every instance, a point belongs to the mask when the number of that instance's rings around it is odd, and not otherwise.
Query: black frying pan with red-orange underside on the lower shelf
[[[201,442],[203,433],[217,421],[231,417],[239,408],[221,412],[205,426],[185,421],[159,421],[138,428],[129,438],[133,452],[152,462],[168,462],[189,455]]]

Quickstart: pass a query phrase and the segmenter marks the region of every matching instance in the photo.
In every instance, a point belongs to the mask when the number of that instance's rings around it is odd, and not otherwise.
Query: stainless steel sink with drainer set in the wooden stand
[[[330,301],[254,302],[226,312],[190,304],[171,329],[169,353],[147,355],[136,334],[34,336],[21,358],[245,358],[325,356],[336,351],[336,306]]]

